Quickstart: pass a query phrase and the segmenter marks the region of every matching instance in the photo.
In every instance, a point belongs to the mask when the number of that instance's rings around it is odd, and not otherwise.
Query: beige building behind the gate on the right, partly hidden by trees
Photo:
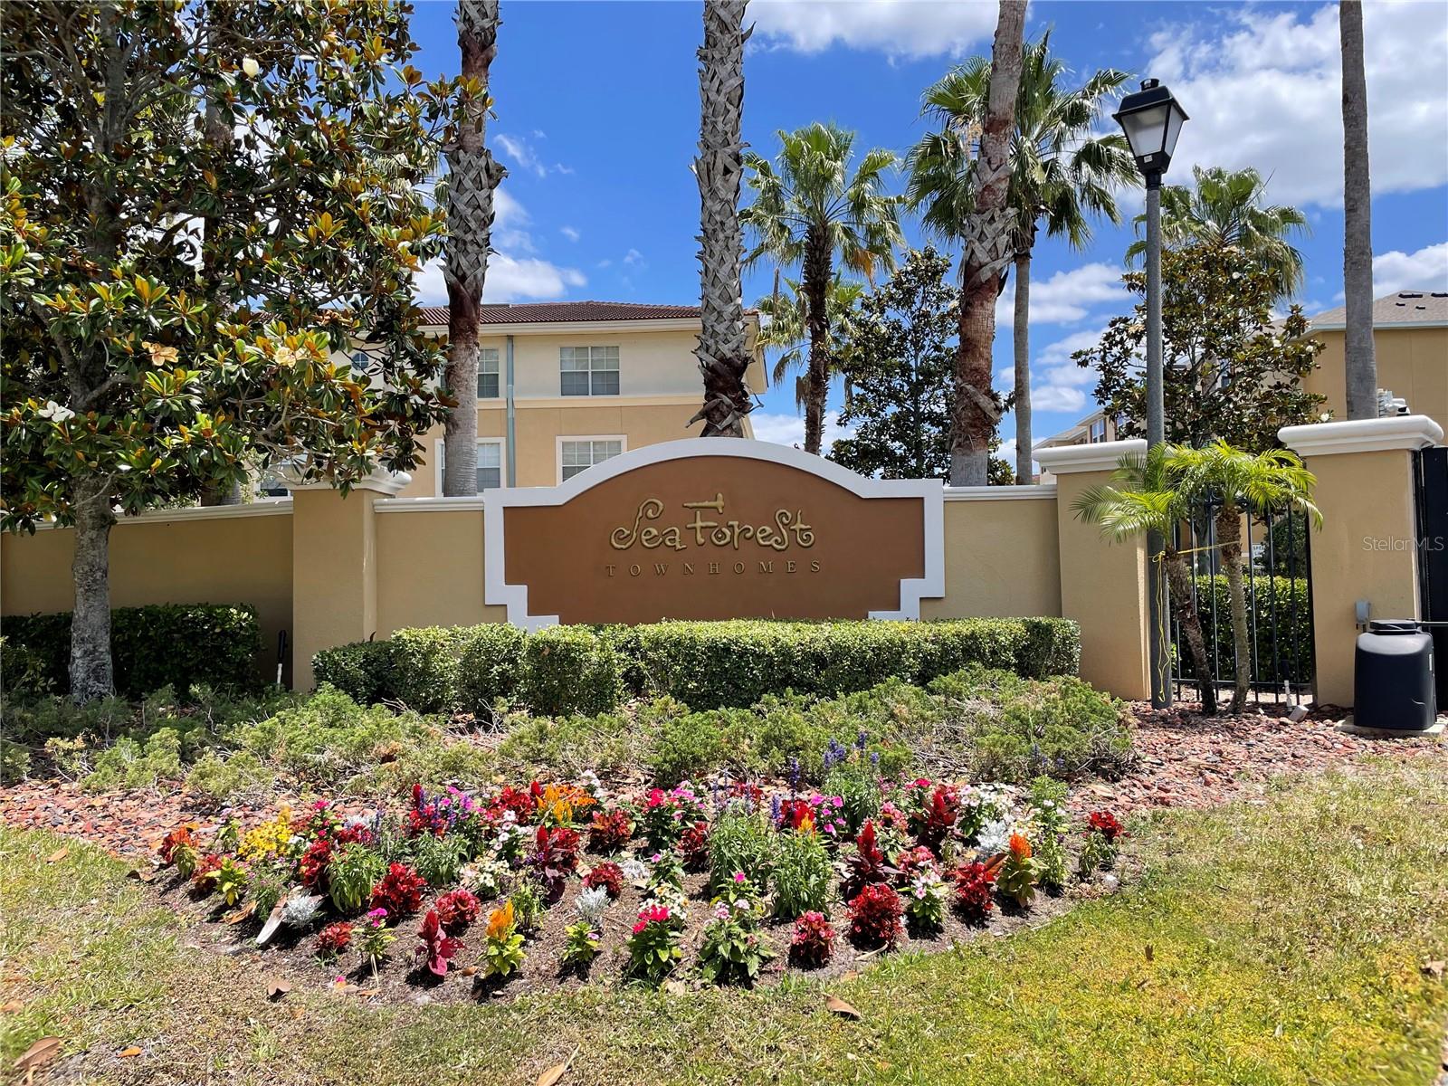
[[[1334,418],[1347,417],[1347,374],[1344,361],[1344,307],[1309,319],[1309,333],[1322,343],[1318,368],[1302,382],[1309,392],[1326,398]],[[1373,303],[1373,346],[1377,356],[1377,385],[1407,404],[1409,414],[1422,414],[1448,429],[1448,292],[1399,291]],[[1035,449],[1096,445],[1118,439],[1118,421],[1100,408],[1074,426],[1035,443]]]

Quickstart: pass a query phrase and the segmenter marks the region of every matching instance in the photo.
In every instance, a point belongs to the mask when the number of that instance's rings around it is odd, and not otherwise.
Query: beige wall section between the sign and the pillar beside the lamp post
[[[946,500],[946,595],[921,618],[1061,614],[1056,498]]]

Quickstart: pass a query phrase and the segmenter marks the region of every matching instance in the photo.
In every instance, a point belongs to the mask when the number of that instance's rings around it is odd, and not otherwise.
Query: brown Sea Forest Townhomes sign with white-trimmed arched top
[[[941,597],[938,479],[692,437],[559,487],[488,491],[485,599],[526,628],[663,618],[918,618]]]

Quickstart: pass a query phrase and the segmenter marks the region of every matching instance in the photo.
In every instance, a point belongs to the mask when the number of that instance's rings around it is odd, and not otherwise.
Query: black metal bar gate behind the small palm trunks
[[[1202,623],[1212,685],[1229,695],[1237,675],[1226,572],[1216,539],[1219,507],[1202,505],[1177,524],[1173,544],[1190,571],[1192,602]],[[1248,668],[1257,705],[1296,705],[1312,694],[1312,523],[1300,510],[1242,515],[1242,584],[1247,597]],[[1444,582],[1448,604],[1448,579]],[[1197,682],[1182,626],[1171,620],[1174,696],[1196,701]]]

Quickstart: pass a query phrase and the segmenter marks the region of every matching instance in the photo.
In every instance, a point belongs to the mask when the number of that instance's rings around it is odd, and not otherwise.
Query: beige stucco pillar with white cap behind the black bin
[[[1357,602],[1373,618],[1420,618],[1413,453],[1444,432],[1428,416],[1287,426],[1277,432],[1318,476],[1322,530],[1312,533],[1315,688],[1352,704]]]

